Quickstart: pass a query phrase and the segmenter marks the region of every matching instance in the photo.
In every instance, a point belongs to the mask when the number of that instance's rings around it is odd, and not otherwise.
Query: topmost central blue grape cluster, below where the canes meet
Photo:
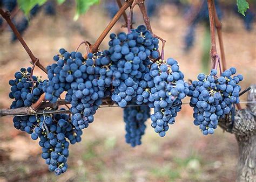
[[[151,59],[159,57],[159,41],[144,25],[131,30],[129,34],[121,32],[116,36],[112,33],[110,38],[110,69],[113,70],[114,89],[111,98],[120,107],[125,107],[134,97],[137,104],[142,104],[143,98],[138,95],[147,87],[144,76],[150,71]]]

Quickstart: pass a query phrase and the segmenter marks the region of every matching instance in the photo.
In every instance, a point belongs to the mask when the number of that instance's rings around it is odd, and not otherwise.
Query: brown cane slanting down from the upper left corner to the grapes
[[[0,9],[0,14],[6,20],[6,22],[9,24],[9,26],[12,29],[12,31],[14,31],[15,36],[18,38],[19,42],[24,47],[25,51],[28,53],[32,63],[37,62],[36,65],[40,69],[42,69],[42,71],[44,71],[47,74],[46,68],[41,65],[41,63],[38,61],[38,58],[35,57],[35,55],[30,50],[29,46],[25,43],[24,39],[22,38],[21,34],[18,32],[18,30],[17,30],[16,26],[14,25],[14,23],[12,23],[12,21],[10,19],[10,12],[8,12],[8,11],[4,12],[2,9]]]

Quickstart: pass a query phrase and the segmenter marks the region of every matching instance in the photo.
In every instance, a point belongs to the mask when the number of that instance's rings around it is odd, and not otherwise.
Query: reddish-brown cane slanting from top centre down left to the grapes
[[[117,23],[118,19],[123,15],[125,10],[129,8],[134,0],[127,0],[123,6],[119,9],[119,11],[116,13],[116,15],[113,17],[109,25],[107,25],[106,29],[100,34],[99,38],[96,40],[95,44],[93,44],[90,47],[90,52],[95,53],[98,51],[99,45],[102,43],[103,39],[107,36],[107,33],[110,32],[114,24]],[[87,57],[87,55],[84,55],[84,57]]]

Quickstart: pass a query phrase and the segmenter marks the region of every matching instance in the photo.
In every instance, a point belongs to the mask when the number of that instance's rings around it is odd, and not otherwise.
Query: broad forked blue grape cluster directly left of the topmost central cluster
[[[72,105],[70,111],[73,114],[73,125],[76,129],[87,128],[93,122],[93,115],[107,93],[103,75],[101,80],[104,84],[99,81],[100,70],[106,58],[101,52],[90,53],[87,59],[80,52],[69,53],[63,48],[59,53],[53,57],[57,63],[46,68],[49,82],[43,87],[45,99],[55,103],[60,94],[66,91],[65,100]],[[110,85],[111,79],[106,84]]]

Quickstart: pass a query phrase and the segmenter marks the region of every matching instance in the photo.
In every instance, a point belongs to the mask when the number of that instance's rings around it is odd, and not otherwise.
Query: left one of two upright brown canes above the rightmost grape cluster
[[[215,66],[217,61],[217,49],[216,49],[216,40],[215,40],[215,24],[214,24],[214,10],[213,2],[214,0],[207,0],[209,19],[210,19],[210,32],[211,32],[211,58],[212,58],[212,68]]]

